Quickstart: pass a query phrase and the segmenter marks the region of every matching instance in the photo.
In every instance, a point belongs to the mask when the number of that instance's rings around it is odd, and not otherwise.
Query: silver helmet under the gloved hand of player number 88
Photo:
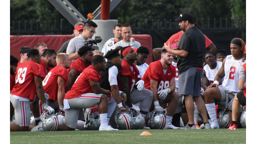
[[[166,109],[164,109],[163,113],[157,113],[156,110],[153,110],[149,114],[148,125],[150,129],[163,129],[165,127],[165,117]]]

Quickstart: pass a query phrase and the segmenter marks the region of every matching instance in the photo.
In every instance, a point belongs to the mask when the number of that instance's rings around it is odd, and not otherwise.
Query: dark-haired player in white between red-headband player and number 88
[[[134,51],[136,52],[138,57],[138,59],[134,61],[134,63],[136,64],[136,67],[140,72],[140,75],[138,75],[138,77],[142,78],[148,68],[148,64],[146,64],[146,60],[148,58],[149,50],[147,47],[141,46],[139,48],[134,48]]]

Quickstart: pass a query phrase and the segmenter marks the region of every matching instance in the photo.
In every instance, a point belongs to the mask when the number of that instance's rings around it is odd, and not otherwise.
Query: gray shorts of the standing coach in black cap
[[[179,94],[201,96],[201,78],[203,70],[189,67],[179,75]]]

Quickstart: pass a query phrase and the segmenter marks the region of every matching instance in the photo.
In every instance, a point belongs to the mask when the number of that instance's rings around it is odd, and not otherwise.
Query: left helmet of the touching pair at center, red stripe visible
[[[130,130],[133,128],[133,119],[128,112],[116,111],[115,121],[117,128],[120,130]]]

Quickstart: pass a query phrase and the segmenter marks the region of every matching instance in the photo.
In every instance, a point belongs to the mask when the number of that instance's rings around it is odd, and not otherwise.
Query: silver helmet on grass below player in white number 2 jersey
[[[229,114],[227,109],[223,109],[222,111],[219,112],[219,119],[218,123],[220,128],[227,129],[229,125]]]

